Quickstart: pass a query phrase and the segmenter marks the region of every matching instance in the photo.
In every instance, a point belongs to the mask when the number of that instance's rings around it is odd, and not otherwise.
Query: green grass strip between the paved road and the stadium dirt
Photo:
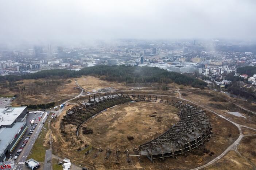
[[[30,154],[28,155],[27,159],[33,158],[38,162],[44,162],[45,152],[47,149],[50,149],[49,147],[44,147],[44,137],[48,131],[48,121],[50,120],[50,116],[47,117],[42,130],[40,131],[38,138],[36,139],[36,142],[34,143],[34,146],[32,147],[32,150],[30,151]]]

